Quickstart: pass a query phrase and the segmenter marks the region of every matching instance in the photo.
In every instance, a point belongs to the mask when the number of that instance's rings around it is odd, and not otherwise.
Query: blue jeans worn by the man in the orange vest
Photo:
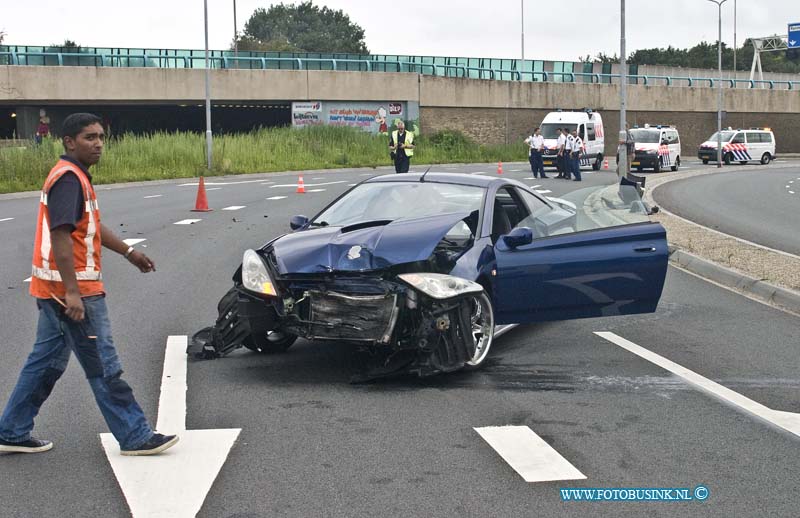
[[[14,391],[0,418],[0,439],[30,439],[33,420],[47,400],[74,352],[94,392],[108,428],[123,450],[136,449],[150,440],[153,430],[122,378],[122,366],[111,339],[105,296],[83,299],[85,319],[75,322],[53,300],[37,299],[39,324],[36,343],[20,372]]]

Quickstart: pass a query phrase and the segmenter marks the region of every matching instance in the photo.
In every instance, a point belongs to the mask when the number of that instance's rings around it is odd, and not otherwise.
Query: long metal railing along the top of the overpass
[[[14,66],[96,66],[117,68],[204,68],[205,55],[178,55],[161,52],[141,53],[101,53],[101,52],[51,52],[51,51],[2,51],[0,64]],[[186,51],[194,53],[195,51]],[[221,54],[221,55],[220,55]],[[416,60],[386,59],[390,56],[357,56],[334,57],[280,57],[272,55],[247,56],[236,55],[232,52],[215,51],[209,57],[211,68],[217,69],[289,69],[289,70],[345,70],[364,72],[411,72],[424,75],[459,77],[470,79],[506,79],[512,81],[556,81],[562,83],[602,84],[619,80],[618,74],[604,74],[596,72],[553,72],[544,70],[517,70],[514,68],[494,68],[485,66],[470,66],[463,64],[425,63]],[[380,59],[380,58],[383,59]],[[423,59],[423,58],[420,58]],[[431,58],[424,58],[431,59]],[[435,58],[434,58],[435,59]],[[449,60],[449,58],[447,58]],[[455,58],[456,60],[473,59]],[[474,59],[475,61],[483,61]],[[489,61],[516,61],[516,60],[489,60]],[[277,66],[275,66],[277,65]],[[286,65],[286,66],[284,66]],[[578,81],[578,80],[581,81]],[[708,86],[713,88],[717,81],[722,81],[727,88],[737,88],[743,85],[749,89],[768,88],[794,90],[800,87],[798,81],[778,80],[751,80],[751,79],[717,79],[711,77],[692,78],[662,75],[637,75],[629,74],[629,81],[644,86]],[[677,85],[675,83],[678,83]]]

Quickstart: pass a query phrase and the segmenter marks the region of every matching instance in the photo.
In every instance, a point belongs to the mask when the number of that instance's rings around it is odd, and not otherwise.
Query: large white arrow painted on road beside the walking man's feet
[[[170,336],[161,379],[157,430],[180,442],[153,457],[123,457],[109,433],[100,434],[108,461],[134,518],[190,518],[203,507],[240,428],[186,430],[186,336]]]

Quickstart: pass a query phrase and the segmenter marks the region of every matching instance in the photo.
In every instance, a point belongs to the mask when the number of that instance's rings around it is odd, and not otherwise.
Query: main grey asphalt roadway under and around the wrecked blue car
[[[434,169],[494,174],[486,165]],[[506,165],[505,174],[529,177],[522,169]],[[305,195],[294,194],[295,175],[214,179],[210,213],[189,212],[196,187],[182,182],[100,189],[104,222],[123,238],[146,239],[137,246],[158,268],[142,275],[104,256],[125,377],[148,417],[155,421],[167,336],[213,322],[242,250],[371,174],[309,172],[307,189],[325,190]],[[615,175],[584,178],[524,181],[564,195]],[[267,200],[278,196],[285,198]],[[0,220],[14,218],[0,221],[3,403],[34,336],[24,279],[36,202],[0,200]],[[234,206],[242,208],[221,210]],[[200,221],[174,224],[187,218]],[[284,355],[240,350],[192,362],[188,428],[242,428],[199,516],[795,516],[797,436],[595,332],[612,331],[772,409],[800,412],[797,325],[670,268],[656,313],[519,327],[474,373],[349,385],[357,363],[349,347],[303,340]],[[524,482],[473,430],[495,425],[529,426],[587,478]],[[73,361],[37,420],[36,433],[55,449],[0,457],[0,515],[128,516],[97,437],[105,431]],[[565,503],[559,495],[563,487],[699,484],[710,489],[705,502]]]

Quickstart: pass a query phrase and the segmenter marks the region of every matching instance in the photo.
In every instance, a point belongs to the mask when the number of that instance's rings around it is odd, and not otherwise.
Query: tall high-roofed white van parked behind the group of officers
[[[586,108],[583,111],[555,111],[545,115],[539,126],[544,137],[544,165],[556,167],[558,155],[557,130],[567,128],[570,133],[577,130],[578,136],[583,140],[583,154],[581,166],[591,166],[593,170],[600,170],[605,152],[605,131],[603,117],[598,112]]]

